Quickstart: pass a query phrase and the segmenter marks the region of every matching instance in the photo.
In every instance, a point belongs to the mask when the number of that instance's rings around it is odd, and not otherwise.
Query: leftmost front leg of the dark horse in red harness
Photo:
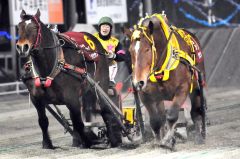
[[[32,103],[34,104],[35,108],[37,109],[38,113],[38,124],[42,130],[42,147],[44,149],[54,149],[54,146],[52,145],[52,141],[50,139],[50,136],[48,134],[48,117],[46,116],[46,110],[45,105],[41,104],[40,101],[36,100],[35,98],[31,97]]]

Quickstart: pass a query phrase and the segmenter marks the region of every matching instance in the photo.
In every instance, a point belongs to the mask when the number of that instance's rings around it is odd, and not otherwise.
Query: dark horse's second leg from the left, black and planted
[[[73,124],[73,147],[81,147],[81,148],[89,148],[91,146],[91,142],[88,140],[87,136],[84,132],[84,123],[82,121],[80,107],[70,107],[70,118]]]

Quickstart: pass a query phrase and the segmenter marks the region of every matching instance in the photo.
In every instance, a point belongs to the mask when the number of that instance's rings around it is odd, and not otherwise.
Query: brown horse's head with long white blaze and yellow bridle
[[[124,31],[131,39],[129,52],[132,58],[133,84],[138,90],[146,87],[159,56],[157,53],[159,50],[156,48],[160,48],[160,44],[156,39],[159,40],[158,36],[162,35],[158,23],[155,18],[144,18],[133,31],[128,29]]]

